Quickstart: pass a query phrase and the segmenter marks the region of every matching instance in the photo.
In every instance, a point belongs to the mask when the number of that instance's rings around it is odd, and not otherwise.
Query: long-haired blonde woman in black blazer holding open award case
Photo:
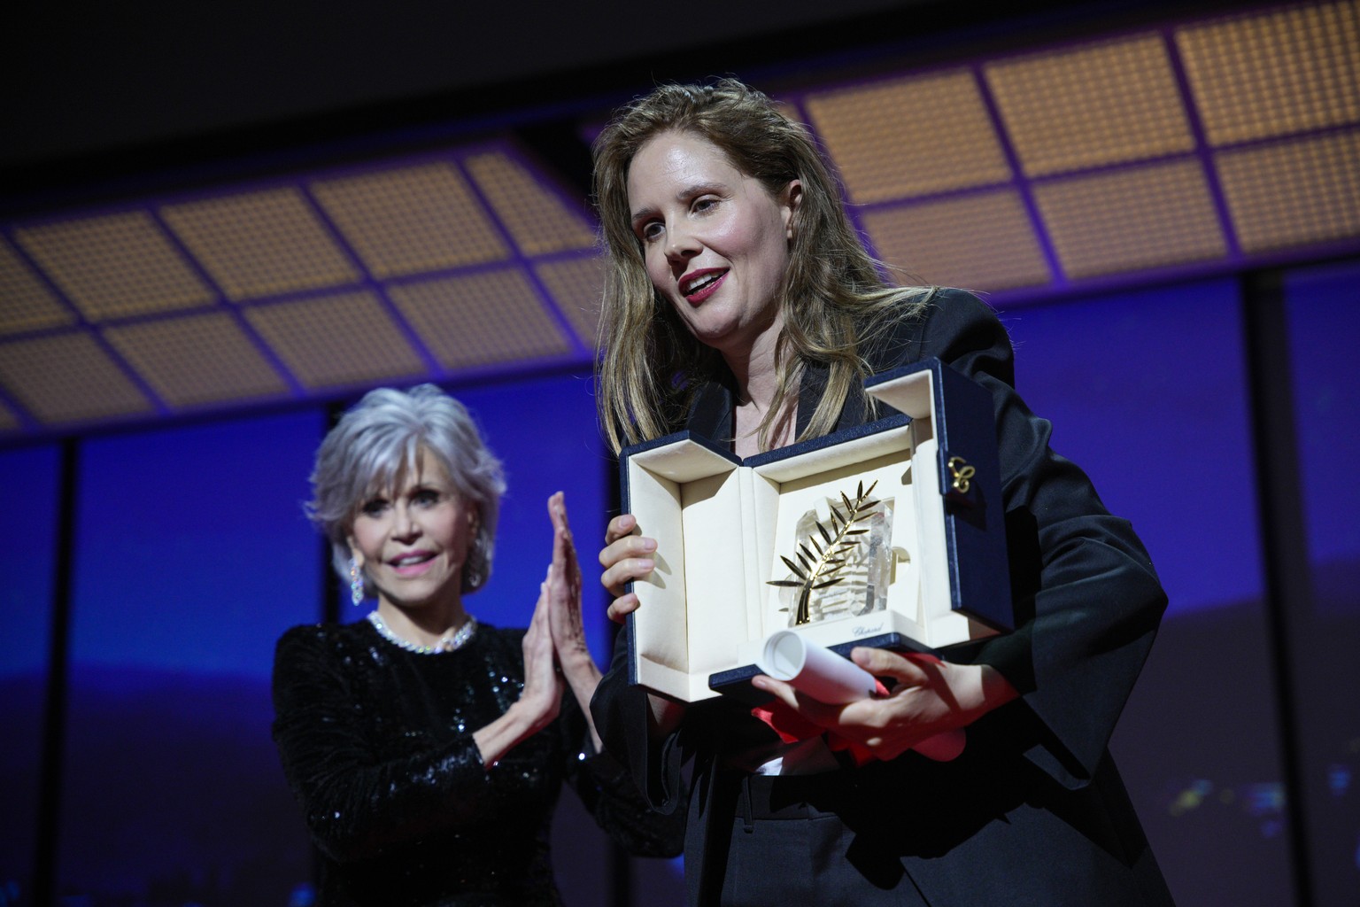
[[[925,135],[922,141],[948,141]],[[662,810],[694,760],[691,904],[1168,904],[1106,742],[1166,606],[1146,551],[1049,447],[975,296],[895,287],[809,133],[740,82],[662,86],[596,143],[608,268],[600,413],[617,451],[690,428],[738,456],[879,415],[862,379],[937,356],[993,397],[1019,627],[948,661],[853,660],[888,695],[828,706],[753,685],[842,740],[786,742],[729,699],[630,685],[628,634],[592,703],[607,749]],[[880,407],[885,409],[885,407]],[[615,517],[601,581],[622,620],[656,540]],[[964,732],[953,759],[913,748]]]

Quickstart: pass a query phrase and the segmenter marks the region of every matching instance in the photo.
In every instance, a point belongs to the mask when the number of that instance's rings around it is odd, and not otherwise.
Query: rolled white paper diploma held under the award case
[[[877,681],[868,670],[792,630],[770,634],[760,647],[756,668],[830,706],[843,706],[879,692]],[[949,761],[963,752],[966,741],[960,728],[928,737],[913,749],[926,759]]]

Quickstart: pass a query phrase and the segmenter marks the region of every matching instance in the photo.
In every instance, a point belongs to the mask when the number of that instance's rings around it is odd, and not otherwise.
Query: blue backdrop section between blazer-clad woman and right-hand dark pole
[[[1223,280],[1004,318],[1054,450],[1133,522],[1171,600],[1111,748],[1187,904],[1292,896],[1278,752],[1243,745],[1277,729],[1239,310]]]

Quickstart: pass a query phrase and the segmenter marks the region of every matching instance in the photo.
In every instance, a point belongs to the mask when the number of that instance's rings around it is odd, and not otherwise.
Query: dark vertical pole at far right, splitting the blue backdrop
[[[1289,855],[1296,903],[1299,907],[1311,907],[1312,876],[1292,636],[1295,624],[1312,613],[1312,583],[1303,492],[1299,487],[1293,373],[1289,364],[1282,273],[1255,271],[1243,275],[1242,311]]]

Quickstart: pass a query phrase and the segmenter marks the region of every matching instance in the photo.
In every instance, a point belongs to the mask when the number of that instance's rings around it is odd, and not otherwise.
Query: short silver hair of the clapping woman
[[[468,408],[434,385],[411,390],[370,390],[336,423],[311,472],[307,517],[330,540],[332,566],[350,579],[350,532],[359,509],[416,466],[420,450],[443,465],[454,490],[480,515],[477,534],[462,566],[462,592],[475,592],[491,577],[496,519],[505,473],[487,449]],[[364,596],[373,596],[363,578]]]

